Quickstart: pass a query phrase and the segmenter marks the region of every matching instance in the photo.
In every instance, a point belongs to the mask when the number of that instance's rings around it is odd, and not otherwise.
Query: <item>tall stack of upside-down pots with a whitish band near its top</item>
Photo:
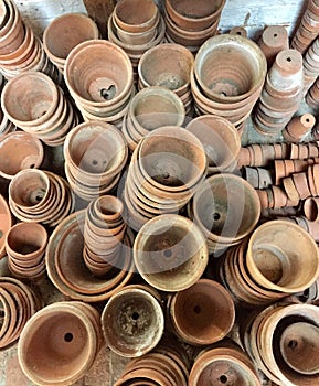
[[[298,109],[304,95],[302,56],[296,50],[279,52],[268,72],[255,114],[263,135],[280,132]]]

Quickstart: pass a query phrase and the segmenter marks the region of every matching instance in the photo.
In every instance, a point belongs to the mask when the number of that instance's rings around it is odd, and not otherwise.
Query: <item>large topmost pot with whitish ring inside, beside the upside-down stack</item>
[[[226,54],[225,46],[228,49]],[[223,71],[212,72],[212,63],[214,67],[222,66]],[[234,63],[235,72],[232,71]],[[209,39],[201,46],[194,62],[194,74],[209,98],[232,103],[251,96],[260,87],[266,75],[266,60],[251,40],[224,34]]]

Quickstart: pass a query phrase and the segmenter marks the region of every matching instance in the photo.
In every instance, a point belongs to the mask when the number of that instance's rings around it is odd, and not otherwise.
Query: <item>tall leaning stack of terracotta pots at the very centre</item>
[[[204,181],[206,157],[200,140],[176,126],[151,131],[135,149],[125,182],[129,225],[182,208]]]

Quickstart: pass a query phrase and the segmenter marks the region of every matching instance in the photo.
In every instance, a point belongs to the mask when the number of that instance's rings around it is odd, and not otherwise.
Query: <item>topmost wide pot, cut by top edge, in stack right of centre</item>
[[[201,31],[220,17],[225,1],[208,4],[201,1],[196,6],[179,0],[166,0],[166,10],[173,22],[187,31]]]

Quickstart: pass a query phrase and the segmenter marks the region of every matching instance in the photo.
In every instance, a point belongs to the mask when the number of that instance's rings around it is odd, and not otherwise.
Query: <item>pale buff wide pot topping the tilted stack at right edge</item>
[[[257,227],[246,253],[252,278],[264,288],[287,294],[311,286],[318,276],[318,259],[315,240],[299,226],[285,221],[270,221]]]

